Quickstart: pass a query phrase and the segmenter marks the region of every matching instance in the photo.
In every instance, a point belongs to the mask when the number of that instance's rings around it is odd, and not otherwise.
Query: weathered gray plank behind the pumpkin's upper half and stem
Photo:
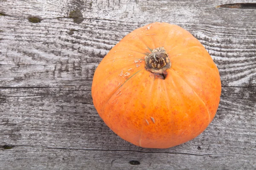
[[[0,56],[3,59],[0,60],[0,67],[3,74],[8,72],[8,75],[2,76],[2,80],[9,85],[17,85],[18,82],[21,86],[38,86],[33,83],[41,86],[44,82],[59,84],[61,79],[78,77],[92,79],[97,64],[111,47],[128,31],[139,27],[139,23],[128,25],[108,20],[84,20],[83,26],[77,26],[70,19],[44,20],[37,24],[13,17],[1,17],[0,20],[3,23],[3,31],[0,32]],[[55,27],[56,24],[58,27]],[[187,29],[205,45],[215,60],[222,85],[255,85],[256,23],[251,24],[247,34],[244,27],[239,25],[236,29],[218,26],[217,23],[211,27],[198,25],[200,27],[194,25]],[[69,35],[70,29],[78,31]],[[234,29],[236,32],[231,31]],[[45,81],[38,81],[38,78]]]

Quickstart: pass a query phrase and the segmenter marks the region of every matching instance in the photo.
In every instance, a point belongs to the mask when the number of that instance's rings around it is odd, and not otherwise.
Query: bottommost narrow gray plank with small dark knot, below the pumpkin
[[[51,170],[177,170],[177,169],[255,169],[253,157],[249,155],[192,155],[180,153],[148,153],[130,150],[86,150],[47,147],[19,146],[4,150],[3,167],[20,169]],[[24,156],[24,150],[26,155]],[[15,157],[12,157],[15,154]],[[129,161],[138,160],[139,165]],[[253,163],[254,162],[254,163]],[[1,169],[1,167],[0,167]]]

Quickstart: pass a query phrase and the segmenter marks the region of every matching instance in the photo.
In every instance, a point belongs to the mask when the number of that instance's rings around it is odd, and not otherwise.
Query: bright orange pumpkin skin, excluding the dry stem
[[[163,47],[166,77],[145,69]],[[202,133],[218,109],[221,80],[204,46],[179,26],[151,23],[126,35],[96,68],[93,104],[105,124],[140,147],[169,148]]]

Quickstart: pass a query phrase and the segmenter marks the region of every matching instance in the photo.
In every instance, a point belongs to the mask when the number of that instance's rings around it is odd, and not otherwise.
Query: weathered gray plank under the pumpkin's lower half
[[[136,147],[116,136],[97,115],[89,85],[2,88],[0,94],[2,145],[256,156],[256,87],[223,88],[218,113],[207,130],[167,150]]]

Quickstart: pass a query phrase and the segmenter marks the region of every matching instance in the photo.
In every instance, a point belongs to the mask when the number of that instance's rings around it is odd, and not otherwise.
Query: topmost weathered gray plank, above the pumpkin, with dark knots
[[[155,19],[163,22],[164,18],[180,17],[185,20],[196,20],[202,11],[209,13],[216,6],[231,3],[256,3],[255,0],[1,0],[0,9],[14,17],[39,16],[44,18],[68,17],[70,11],[79,9],[85,18],[148,21]],[[9,10],[9,9],[12,10]],[[157,10],[156,10],[157,9]],[[221,10],[230,11],[228,8]],[[237,9],[234,9],[237,12]],[[232,11],[234,11],[232,10]],[[240,10],[240,9],[239,9]],[[240,10],[243,11],[244,9]],[[243,11],[244,13],[244,11]],[[232,14],[225,17],[230,19]],[[242,17],[242,16],[241,16]],[[151,21],[149,19],[154,19]],[[239,18],[237,18],[239,19]],[[177,20],[176,20],[177,21]]]

